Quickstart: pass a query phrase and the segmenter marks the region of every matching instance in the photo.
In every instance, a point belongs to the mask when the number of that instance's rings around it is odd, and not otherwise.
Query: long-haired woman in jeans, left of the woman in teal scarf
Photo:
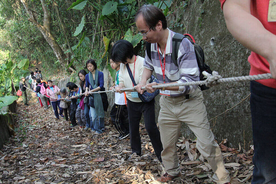
[[[85,85],[86,85],[86,81],[85,81],[85,76],[86,76],[86,71],[85,70],[81,70],[78,73],[79,79],[80,79],[80,83],[79,85],[81,86],[81,93],[85,93]],[[92,122],[90,122],[90,107],[88,105],[88,97],[83,96],[83,110],[81,110],[81,118],[85,118],[85,120],[83,120],[83,122],[86,122],[86,125],[84,130],[88,130],[90,129],[90,127],[92,127]],[[84,115],[83,115],[84,114]]]

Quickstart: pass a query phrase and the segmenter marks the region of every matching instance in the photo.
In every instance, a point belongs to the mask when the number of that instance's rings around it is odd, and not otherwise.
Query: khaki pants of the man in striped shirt
[[[180,172],[176,142],[182,122],[187,123],[197,137],[197,149],[210,164],[215,181],[218,184],[229,182],[229,172],[224,168],[221,150],[210,129],[203,95],[199,88],[190,94],[190,99],[186,99],[185,95],[160,98],[158,123],[164,148],[161,157],[167,173],[176,176]]]

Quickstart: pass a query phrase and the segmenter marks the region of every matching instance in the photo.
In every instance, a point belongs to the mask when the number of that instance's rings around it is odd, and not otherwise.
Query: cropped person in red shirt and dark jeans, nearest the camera
[[[250,75],[273,79],[250,82],[254,169],[252,184],[276,183],[276,1],[220,0],[230,33],[252,52]]]

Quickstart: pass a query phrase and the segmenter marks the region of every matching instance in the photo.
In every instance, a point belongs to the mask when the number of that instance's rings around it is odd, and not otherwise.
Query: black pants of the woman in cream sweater
[[[130,145],[132,153],[141,155],[141,137],[139,134],[139,123],[142,113],[144,115],[145,127],[147,129],[149,138],[155,154],[160,162],[161,151],[163,150],[160,133],[155,123],[155,111],[154,100],[151,102],[132,102],[127,99],[127,111],[129,119],[129,131],[130,131]]]

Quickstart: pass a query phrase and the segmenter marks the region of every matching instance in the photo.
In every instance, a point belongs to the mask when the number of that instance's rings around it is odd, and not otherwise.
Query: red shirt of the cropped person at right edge
[[[221,2],[221,8],[223,8],[223,4],[226,0],[219,0]],[[276,35],[276,22],[268,22],[268,7],[269,0],[251,0],[251,14],[258,18],[258,20],[263,24],[265,29],[269,32]],[[276,8],[276,7],[275,7]],[[248,62],[250,63],[250,75],[257,75],[263,73],[270,73],[269,63],[267,60],[261,55],[251,52],[248,57]],[[264,79],[258,80],[259,83],[271,87],[276,88],[276,80],[275,79]]]

